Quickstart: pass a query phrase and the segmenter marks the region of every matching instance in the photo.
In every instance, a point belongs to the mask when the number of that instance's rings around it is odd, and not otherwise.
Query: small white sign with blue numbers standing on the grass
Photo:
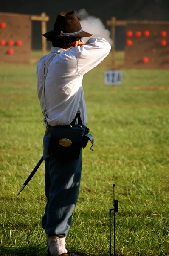
[[[106,70],[104,72],[104,84],[107,84],[107,85],[122,84],[122,71]]]

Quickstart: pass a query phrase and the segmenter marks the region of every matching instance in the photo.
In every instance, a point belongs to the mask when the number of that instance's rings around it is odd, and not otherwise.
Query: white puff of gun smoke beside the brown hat
[[[82,29],[84,31],[93,34],[92,37],[102,37],[112,45],[110,31],[104,27],[104,24],[99,18],[90,16],[85,9],[80,9],[78,12],[76,12],[76,15],[79,17]],[[85,42],[88,39],[89,38],[83,38]]]

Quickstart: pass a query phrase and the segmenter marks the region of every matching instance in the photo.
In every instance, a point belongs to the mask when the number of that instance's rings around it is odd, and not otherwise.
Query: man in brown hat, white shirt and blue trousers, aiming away
[[[61,12],[54,29],[43,36],[52,47],[37,64],[38,97],[46,123],[43,159],[47,204],[42,227],[48,255],[59,256],[67,253],[65,239],[81,180],[82,139],[87,134],[83,75],[96,67],[111,47],[104,38],[90,38],[84,44],[82,38],[92,35],[82,30],[74,11]]]

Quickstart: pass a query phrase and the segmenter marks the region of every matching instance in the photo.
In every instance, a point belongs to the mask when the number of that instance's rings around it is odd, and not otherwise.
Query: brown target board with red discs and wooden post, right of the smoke
[[[115,64],[115,27],[126,26],[124,68],[169,69],[169,22],[161,21],[107,21],[111,26],[112,69]]]

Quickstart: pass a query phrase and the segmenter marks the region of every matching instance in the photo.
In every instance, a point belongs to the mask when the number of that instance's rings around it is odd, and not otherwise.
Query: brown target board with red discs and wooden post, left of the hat
[[[0,12],[0,63],[30,63],[31,21],[41,21],[41,33],[47,32],[49,17]],[[42,37],[42,54],[47,52],[46,38]]]

